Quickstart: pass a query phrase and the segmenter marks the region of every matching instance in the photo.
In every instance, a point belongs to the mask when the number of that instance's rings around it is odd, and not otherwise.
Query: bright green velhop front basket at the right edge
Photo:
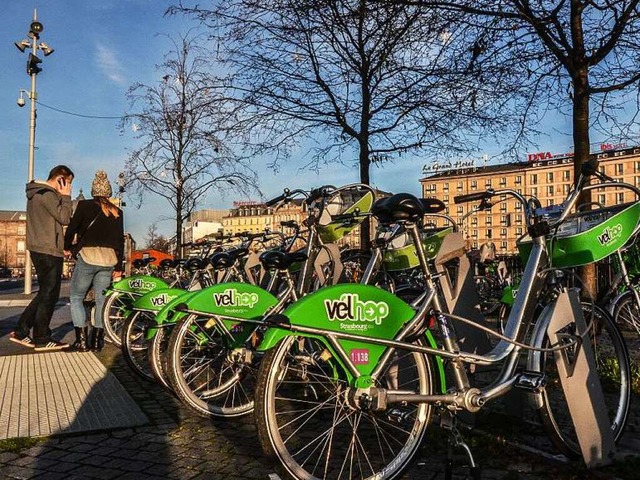
[[[554,267],[577,267],[597,262],[623,247],[636,232],[640,202],[571,215],[547,242]],[[531,238],[518,240],[523,261],[531,252]]]

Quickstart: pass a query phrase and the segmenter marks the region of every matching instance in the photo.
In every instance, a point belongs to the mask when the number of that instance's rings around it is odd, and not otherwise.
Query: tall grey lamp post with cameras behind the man
[[[38,21],[37,10],[33,10],[33,21],[29,26],[29,32],[27,36],[29,39],[16,42],[15,46],[21,52],[24,52],[27,48],[31,48],[29,52],[29,58],[27,59],[27,75],[31,77],[31,90],[26,92],[20,90],[20,96],[18,98],[18,106],[24,107],[25,100],[22,97],[23,93],[27,93],[29,100],[31,100],[31,115],[29,120],[29,163],[28,163],[28,178],[29,182],[34,179],[34,161],[35,161],[35,149],[36,149],[36,100],[38,94],[36,92],[36,76],[42,71],[42,68],[38,64],[42,63],[42,60],[38,57],[38,50],[42,50],[44,56],[47,57],[53,53],[53,48],[44,42],[38,43],[40,34],[44,30],[42,23]],[[26,251],[26,258],[24,261],[24,293],[31,293],[31,255],[29,251]]]

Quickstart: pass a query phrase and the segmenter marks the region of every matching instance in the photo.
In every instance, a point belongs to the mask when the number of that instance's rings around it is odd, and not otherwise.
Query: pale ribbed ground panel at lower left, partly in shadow
[[[0,439],[106,430],[149,422],[92,353],[0,357]]]

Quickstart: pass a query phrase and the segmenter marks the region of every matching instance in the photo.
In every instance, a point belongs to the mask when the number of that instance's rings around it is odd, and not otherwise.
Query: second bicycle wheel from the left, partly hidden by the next
[[[125,321],[122,328],[122,355],[131,369],[141,378],[153,381],[149,365],[149,340],[146,338],[147,327],[153,321],[152,312],[135,311]]]

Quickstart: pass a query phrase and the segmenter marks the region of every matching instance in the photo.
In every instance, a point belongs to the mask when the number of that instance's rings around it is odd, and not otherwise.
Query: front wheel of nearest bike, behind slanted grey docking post
[[[612,316],[604,309],[583,303],[587,322],[598,322],[592,329],[592,346],[596,356],[598,375],[605,394],[614,441],[618,441],[627,423],[631,399],[631,370],[629,354],[620,330]],[[543,345],[549,345],[546,337]],[[537,371],[545,372],[546,385],[540,392],[538,413],[553,444],[569,458],[580,458],[581,452],[566,400],[557,377],[553,353],[539,355]]]

